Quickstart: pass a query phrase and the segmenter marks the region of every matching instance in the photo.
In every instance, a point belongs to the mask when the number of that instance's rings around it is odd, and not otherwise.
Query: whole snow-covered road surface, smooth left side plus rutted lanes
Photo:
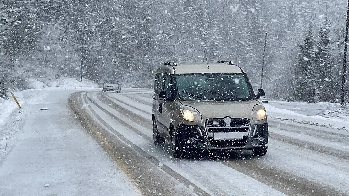
[[[349,132],[277,117],[320,119],[310,110],[266,106],[273,115],[266,156],[174,159],[168,143],[153,144],[150,89],[74,92],[18,96],[28,99],[23,128],[0,156],[0,195],[349,195]]]

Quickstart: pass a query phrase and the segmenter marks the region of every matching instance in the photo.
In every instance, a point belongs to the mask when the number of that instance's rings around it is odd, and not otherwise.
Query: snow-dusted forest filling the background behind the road
[[[0,0],[0,91],[81,70],[151,88],[159,65],[204,48],[258,86],[268,33],[269,99],[339,102],[346,13],[345,0]]]

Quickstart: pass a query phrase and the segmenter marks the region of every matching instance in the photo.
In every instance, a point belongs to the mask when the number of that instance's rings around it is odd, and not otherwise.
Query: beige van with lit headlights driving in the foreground
[[[231,61],[166,62],[158,68],[153,95],[156,146],[171,143],[173,157],[198,149],[252,150],[265,155],[265,108],[242,68]]]

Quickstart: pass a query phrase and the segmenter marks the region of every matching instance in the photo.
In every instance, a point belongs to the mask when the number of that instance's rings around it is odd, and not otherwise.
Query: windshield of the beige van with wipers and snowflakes
[[[176,75],[182,101],[247,101],[254,97],[243,73],[195,73]]]

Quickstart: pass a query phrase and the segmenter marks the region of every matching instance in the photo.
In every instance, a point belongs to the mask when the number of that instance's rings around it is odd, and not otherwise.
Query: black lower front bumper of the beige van
[[[215,140],[205,126],[179,124],[176,128],[178,142],[187,149],[251,150],[268,145],[268,123],[251,125],[243,132],[243,139]]]

